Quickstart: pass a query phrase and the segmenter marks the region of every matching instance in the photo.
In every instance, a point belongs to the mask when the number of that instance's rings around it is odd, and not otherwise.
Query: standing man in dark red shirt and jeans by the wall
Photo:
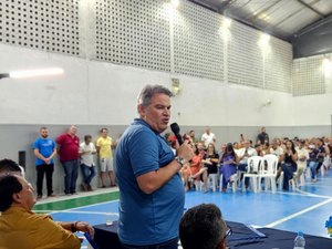
[[[79,176],[79,147],[80,138],[76,136],[77,126],[72,125],[66,133],[56,138],[56,152],[64,169],[64,194],[76,194]]]

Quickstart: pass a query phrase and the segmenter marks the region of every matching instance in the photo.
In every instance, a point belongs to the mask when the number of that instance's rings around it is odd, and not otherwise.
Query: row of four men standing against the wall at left
[[[43,197],[43,179],[46,179],[48,197],[55,197],[53,193],[54,157],[59,156],[64,169],[64,194],[68,196],[76,194],[76,180],[79,168],[81,168],[83,181],[82,190],[93,190],[91,180],[96,175],[96,165],[100,166],[100,177],[102,187],[106,187],[107,176],[111,187],[115,186],[115,174],[113,165],[113,149],[116,141],[108,136],[108,129],[101,128],[101,136],[94,144],[91,135],[84,136],[84,142],[80,143],[76,135],[77,126],[72,125],[66,133],[61,134],[55,141],[49,137],[46,127],[40,128],[40,137],[33,143],[37,169],[37,198]],[[94,154],[98,156],[98,164],[94,160]]]

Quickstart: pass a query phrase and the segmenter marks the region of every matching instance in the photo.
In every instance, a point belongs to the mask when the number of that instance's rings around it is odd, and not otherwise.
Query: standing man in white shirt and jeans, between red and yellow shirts
[[[93,154],[96,153],[94,144],[91,142],[92,136],[85,135],[84,142],[80,144],[79,154],[81,156],[81,170],[83,174],[82,188],[84,191],[92,191],[91,180],[95,176],[95,166]]]

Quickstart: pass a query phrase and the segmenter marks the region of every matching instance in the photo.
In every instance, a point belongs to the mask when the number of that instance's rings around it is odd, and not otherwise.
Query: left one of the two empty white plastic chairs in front
[[[250,185],[252,190],[258,193],[260,189],[258,187],[259,177],[261,175],[263,162],[261,156],[251,156],[248,158],[248,170],[243,174],[242,179],[242,191],[246,191],[245,180],[246,178],[251,178]]]

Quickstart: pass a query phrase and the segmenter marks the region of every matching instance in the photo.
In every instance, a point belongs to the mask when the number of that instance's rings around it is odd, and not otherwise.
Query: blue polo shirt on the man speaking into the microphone
[[[120,240],[145,246],[178,237],[185,203],[180,175],[177,173],[149,195],[141,190],[136,180],[136,177],[157,170],[174,159],[165,138],[143,120],[136,118],[123,134],[115,159],[120,188]]]

